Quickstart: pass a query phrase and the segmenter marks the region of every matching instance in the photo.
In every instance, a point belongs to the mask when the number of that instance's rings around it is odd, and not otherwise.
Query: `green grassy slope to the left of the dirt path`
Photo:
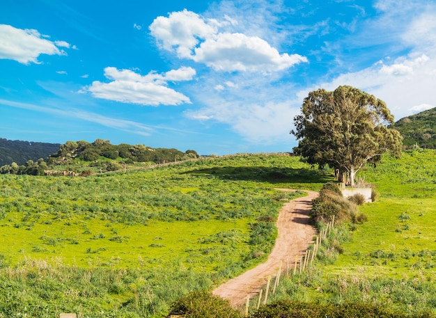
[[[0,177],[0,312],[8,317],[161,317],[178,296],[263,260],[274,227],[256,228],[256,219],[276,216],[290,198],[274,187],[320,189],[329,180],[297,157],[262,155]]]

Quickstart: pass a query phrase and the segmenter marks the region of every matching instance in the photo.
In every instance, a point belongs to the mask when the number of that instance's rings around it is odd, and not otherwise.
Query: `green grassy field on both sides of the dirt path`
[[[336,225],[307,271],[283,277],[271,299],[281,303],[251,317],[345,317],[334,308],[435,317],[435,159],[434,150],[409,150],[362,171],[380,193],[360,207],[368,221]],[[274,188],[319,190],[333,180],[279,154],[0,178],[4,317],[164,317],[180,296],[265,260],[284,200],[304,195]],[[373,305],[400,314],[370,316]]]

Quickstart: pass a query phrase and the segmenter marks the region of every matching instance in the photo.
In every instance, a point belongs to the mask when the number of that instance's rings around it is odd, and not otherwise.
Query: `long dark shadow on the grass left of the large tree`
[[[274,167],[216,167],[185,172],[189,175],[210,175],[222,180],[244,180],[269,182],[270,184],[318,183],[331,181],[332,176],[322,170],[307,168],[274,168]]]

